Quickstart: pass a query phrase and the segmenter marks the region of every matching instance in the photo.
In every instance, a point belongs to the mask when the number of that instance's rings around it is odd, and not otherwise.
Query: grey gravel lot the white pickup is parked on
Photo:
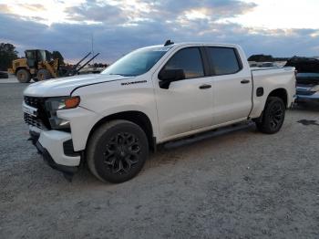
[[[288,111],[275,135],[170,143],[129,182],[87,169],[67,182],[26,141],[25,87],[0,84],[0,238],[319,238],[318,106]]]

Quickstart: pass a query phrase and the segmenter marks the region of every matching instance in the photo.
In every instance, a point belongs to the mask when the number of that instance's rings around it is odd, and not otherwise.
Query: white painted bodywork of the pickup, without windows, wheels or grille
[[[242,59],[242,70],[227,76],[175,81],[168,89],[160,88],[160,69],[184,47],[234,47]],[[80,97],[77,109],[57,111],[59,118],[70,121],[71,133],[49,130],[41,132],[40,136],[40,143],[57,163],[74,166],[78,165],[79,159],[68,159],[63,155],[63,140],[72,139],[75,151],[85,150],[90,131],[99,120],[109,115],[123,111],[144,113],[151,122],[153,137],[161,143],[248,118],[258,118],[269,93],[276,88],[286,90],[287,106],[290,106],[295,95],[293,70],[251,71],[239,46],[185,43],[172,46],[149,72],[136,78],[103,74],[58,78],[32,84],[24,94],[32,97]],[[242,79],[248,79],[250,83],[241,84]],[[123,84],[134,81],[140,83]],[[202,84],[211,84],[212,87],[201,90]],[[258,87],[264,88],[262,97],[252,94]]]

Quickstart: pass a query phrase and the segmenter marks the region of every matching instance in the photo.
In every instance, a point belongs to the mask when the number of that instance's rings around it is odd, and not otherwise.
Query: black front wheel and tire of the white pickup
[[[149,157],[145,132],[128,120],[113,120],[94,131],[87,143],[87,166],[102,182],[126,182]]]

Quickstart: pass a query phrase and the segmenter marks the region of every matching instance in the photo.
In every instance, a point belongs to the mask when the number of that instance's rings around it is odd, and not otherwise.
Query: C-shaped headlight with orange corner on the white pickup
[[[52,129],[68,129],[70,122],[57,117],[57,110],[74,109],[79,105],[79,97],[59,97],[46,99],[46,111],[49,114],[49,122]]]

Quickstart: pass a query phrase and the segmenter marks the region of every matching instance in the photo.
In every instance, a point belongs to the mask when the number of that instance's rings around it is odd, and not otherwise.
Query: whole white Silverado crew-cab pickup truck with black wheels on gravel
[[[244,120],[277,132],[294,95],[294,68],[252,70],[239,46],[167,41],[98,75],[32,84],[23,109],[51,167],[71,176],[86,161],[101,181],[125,182],[169,140]]]

